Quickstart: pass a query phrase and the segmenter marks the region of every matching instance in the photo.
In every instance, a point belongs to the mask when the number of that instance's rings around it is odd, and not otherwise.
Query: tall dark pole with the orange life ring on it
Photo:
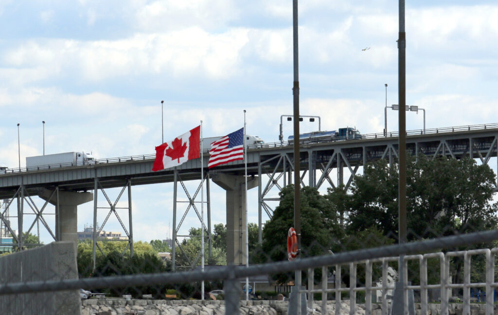
[[[301,249],[301,196],[300,196],[300,165],[299,165],[299,45],[298,45],[298,21],[297,21],[297,0],[292,0],[292,28],[293,28],[293,59],[294,59],[294,85],[292,94],[294,95],[294,229],[297,234],[297,251]],[[301,315],[301,299],[299,289],[301,288],[301,271],[296,271],[295,279],[297,314]]]

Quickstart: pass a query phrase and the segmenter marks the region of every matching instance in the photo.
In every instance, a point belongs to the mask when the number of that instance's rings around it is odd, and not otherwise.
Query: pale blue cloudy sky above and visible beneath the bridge
[[[398,102],[397,14],[394,0],[300,1],[301,114],[321,116],[322,130],[382,132],[384,83]],[[161,100],[167,140],[200,120],[205,137],[225,135],[246,109],[248,133],[276,142],[280,115],[292,114],[291,0],[0,0],[0,29],[3,166],[17,167],[17,123],[24,166],[43,152],[42,120],[46,154],[111,158],[154,153]],[[406,34],[406,102],[426,109],[427,128],[498,121],[496,1],[407,1]],[[397,112],[387,121],[395,130]],[[407,113],[408,130],[422,126]],[[224,222],[212,187],[213,222]],[[92,208],[80,206],[79,230]],[[170,235],[171,209],[172,184],[133,187],[135,238]]]

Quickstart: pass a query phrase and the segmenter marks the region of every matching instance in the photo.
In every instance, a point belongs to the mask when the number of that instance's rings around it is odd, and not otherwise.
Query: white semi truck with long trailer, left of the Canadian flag
[[[26,157],[27,170],[48,169],[65,166],[82,166],[95,164],[95,158],[91,153],[66,152],[48,154],[45,156]]]

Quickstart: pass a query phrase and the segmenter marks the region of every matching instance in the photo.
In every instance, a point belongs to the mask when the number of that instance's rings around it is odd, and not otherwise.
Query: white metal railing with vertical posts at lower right
[[[451,289],[463,289],[463,314],[471,314],[471,288],[485,288],[486,296],[486,315],[494,314],[494,298],[495,289],[498,288],[498,282],[495,281],[495,256],[498,253],[498,248],[493,249],[473,249],[473,250],[463,250],[463,251],[451,251],[447,253],[434,252],[426,254],[415,254],[406,255],[403,257],[404,270],[408,270],[408,261],[416,260],[419,262],[419,275],[420,283],[418,285],[408,285],[408,272],[404,273],[404,309],[408,309],[408,290],[419,290],[420,291],[420,309],[422,315],[428,313],[428,290],[429,289],[439,289],[441,293],[440,305],[442,315],[449,314],[450,305],[450,292]],[[471,282],[471,257],[475,255],[485,255],[486,261],[486,282],[478,283]],[[463,283],[450,283],[450,260],[451,257],[463,256],[464,257],[464,279]],[[427,260],[430,258],[439,259],[440,265],[440,281],[438,284],[429,284],[427,279]],[[341,279],[341,266],[348,265],[350,272],[350,286],[342,288],[341,281],[335,281],[335,288],[327,288],[327,271],[328,266],[322,266],[322,288],[315,289],[313,276],[314,270],[308,269],[308,289],[302,290],[300,292],[308,294],[308,301],[310,304],[313,303],[313,293],[322,294],[322,314],[327,312],[327,293],[335,294],[335,314],[339,315],[343,307],[344,301],[342,300],[342,293],[349,293],[349,306],[350,314],[356,313],[356,302],[357,302],[357,292],[365,292],[365,314],[372,314],[372,296],[374,291],[381,291],[381,314],[389,314],[389,305],[387,294],[388,290],[393,290],[394,285],[388,285],[387,283],[387,269],[389,262],[397,262],[398,257],[383,257],[383,258],[373,258],[363,261],[349,262],[345,264],[335,265],[335,279]],[[382,281],[381,286],[373,286],[373,263],[381,263],[382,269]],[[365,286],[357,287],[357,267],[358,265],[365,265]],[[412,270],[413,271],[413,270]],[[414,271],[413,271],[414,272]]]

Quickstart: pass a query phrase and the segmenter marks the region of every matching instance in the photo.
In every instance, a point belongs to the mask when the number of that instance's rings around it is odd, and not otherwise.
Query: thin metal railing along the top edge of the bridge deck
[[[426,129],[425,131],[421,130],[421,129],[416,129],[416,130],[407,131],[406,135],[408,135],[408,136],[428,135],[428,134],[450,133],[450,132],[459,132],[459,131],[485,130],[485,129],[494,129],[494,128],[498,128],[498,123],[432,128],[432,129]],[[384,133],[374,133],[374,134],[362,135],[362,139],[381,139],[381,138],[390,138],[390,137],[397,137],[397,136],[398,136],[398,132],[388,132],[386,135]],[[344,141],[344,140],[341,140],[341,141]],[[325,141],[322,141],[322,142],[325,142]],[[326,141],[326,142],[328,142],[328,141]],[[306,144],[310,144],[310,143],[319,143],[319,142],[307,142]],[[288,145],[289,145],[289,143],[287,141],[285,141],[283,143],[271,142],[271,143],[264,143],[264,144],[260,144],[260,145],[249,145],[248,149],[278,148],[278,147],[288,146]],[[209,149],[203,150],[203,154],[207,155],[208,153],[209,153]],[[118,158],[99,158],[99,159],[90,161],[87,165],[102,164],[102,163],[117,163],[117,162],[124,162],[124,161],[137,161],[137,160],[146,160],[146,159],[153,159],[153,158],[155,158],[155,154],[125,156],[125,157],[118,157]],[[76,165],[76,163],[56,163],[56,164],[40,165],[40,166],[36,166],[36,167],[29,167],[29,169],[26,167],[0,168],[0,174],[18,173],[18,172],[25,172],[28,170],[53,169],[53,168],[70,167],[70,166],[77,166],[77,165]],[[78,166],[81,166],[81,165],[78,165]]]

